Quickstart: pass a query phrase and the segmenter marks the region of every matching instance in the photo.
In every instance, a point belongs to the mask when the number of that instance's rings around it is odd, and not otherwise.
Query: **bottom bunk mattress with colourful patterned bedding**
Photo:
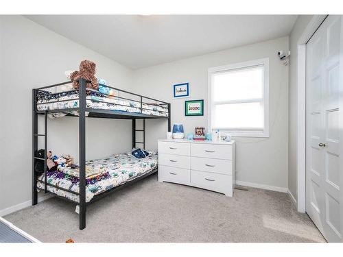
[[[86,162],[86,202],[91,201],[95,195],[99,195],[121,184],[156,169],[158,156],[156,152],[149,151],[149,156],[136,158],[131,152],[127,154],[115,154],[108,158],[90,160]],[[64,171],[48,171],[47,183],[53,184],[69,191],[79,193],[78,169],[64,169]],[[37,187],[44,189],[45,175],[38,176]],[[47,191],[61,197],[79,202],[79,196],[54,186],[47,185]]]

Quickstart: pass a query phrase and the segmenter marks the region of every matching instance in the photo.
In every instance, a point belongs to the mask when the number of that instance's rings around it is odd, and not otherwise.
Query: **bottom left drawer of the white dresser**
[[[191,184],[191,171],[158,165],[158,181],[174,182],[180,184]]]

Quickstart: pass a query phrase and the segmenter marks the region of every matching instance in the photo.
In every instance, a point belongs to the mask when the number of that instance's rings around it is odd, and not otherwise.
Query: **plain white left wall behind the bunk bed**
[[[31,199],[32,88],[66,81],[64,71],[78,70],[84,59],[93,60],[97,77],[106,78],[111,86],[130,90],[132,71],[23,16],[0,16],[0,26],[3,210]],[[78,119],[48,122],[48,148],[77,157]],[[86,133],[87,159],[128,151],[132,146],[131,121],[87,119]]]

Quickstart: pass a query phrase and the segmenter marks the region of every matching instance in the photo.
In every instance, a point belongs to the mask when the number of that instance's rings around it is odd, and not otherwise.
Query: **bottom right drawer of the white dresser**
[[[191,186],[224,193],[230,197],[233,196],[233,181],[230,175],[191,170]]]

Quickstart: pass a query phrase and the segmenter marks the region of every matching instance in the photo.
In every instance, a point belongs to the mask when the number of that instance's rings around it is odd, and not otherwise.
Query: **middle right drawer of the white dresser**
[[[231,160],[191,157],[191,169],[232,175],[233,165]]]

